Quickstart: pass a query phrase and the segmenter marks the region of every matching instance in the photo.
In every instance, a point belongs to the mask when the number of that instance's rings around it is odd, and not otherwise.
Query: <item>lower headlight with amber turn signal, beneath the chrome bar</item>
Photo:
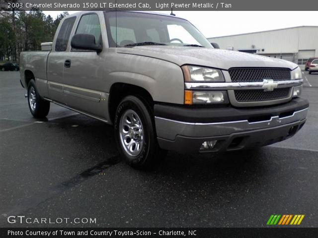
[[[184,104],[225,104],[229,103],[226,91],[184,91]]]

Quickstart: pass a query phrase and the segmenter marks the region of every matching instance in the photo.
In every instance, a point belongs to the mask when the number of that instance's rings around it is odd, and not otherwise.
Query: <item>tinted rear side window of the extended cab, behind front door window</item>
[[[76,16],[64,20],[55,43],[55,51],[66,51]]]

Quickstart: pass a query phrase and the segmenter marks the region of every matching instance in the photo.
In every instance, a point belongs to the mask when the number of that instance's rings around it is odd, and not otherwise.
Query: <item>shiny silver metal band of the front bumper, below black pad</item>
[[[159,138],[175,140],[177,135],[188,137],[212,137],[230,135],[236,132],[271,128],[306,119],[308,108],[294,112],[293,115],[269,120],[249,122],[248,120],[224,121],[213,123],[184,122],[155,117],[156,130]]]

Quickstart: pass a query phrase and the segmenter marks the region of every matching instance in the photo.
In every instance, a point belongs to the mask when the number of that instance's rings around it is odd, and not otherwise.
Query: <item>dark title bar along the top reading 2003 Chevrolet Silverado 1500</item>
[[[277,0],[0,0],[1,10],[269,11],[317,10],[318,1]],[[273,17],[273,16],[268,16]],[[295,14],[297,17],[297,14]],[[235,20],[235,19],[234,19]]]

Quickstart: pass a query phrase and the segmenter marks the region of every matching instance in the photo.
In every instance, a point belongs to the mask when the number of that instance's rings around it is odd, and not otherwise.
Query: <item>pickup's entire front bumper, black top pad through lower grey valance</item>
[[[300,98],[278,106],[249,109],[177,110],[174,106],[155,105],[158,142],[162,149],[187,153],[269,145],[293,136],[305,124],[308,107],[308,101]],[[209,118],[211,122],[207,121]],[[203,142],[213,140],[217,140],[213,149],[200,151]]]

